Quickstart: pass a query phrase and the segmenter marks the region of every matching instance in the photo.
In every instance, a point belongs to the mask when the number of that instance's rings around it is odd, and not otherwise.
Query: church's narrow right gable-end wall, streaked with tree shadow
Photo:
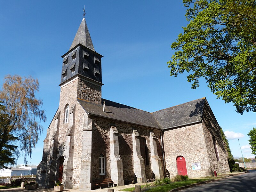
[[[220,126],[217,123],[217,120],[215,119],[208,103],[206,103],[204,107],[202,124],[212,174],[214,171],[216,171],[217,173],[230,172],[226,155],[226,145],[221,137]],[[218,153],[217,155],[219,156],[219,161],[217,160],[212,137],[214,137],[216,140],[216,147]]]

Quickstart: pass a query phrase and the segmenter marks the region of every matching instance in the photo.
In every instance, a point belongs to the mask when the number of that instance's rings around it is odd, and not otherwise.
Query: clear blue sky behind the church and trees
[[[166,62],[170,48],[188,23],[182,1],[1,1],[0,86],[7,74],[32,76],[40,83],[43,123],[31,164],[39,164],[43,140],[59,105],[62,58],[83,19],[96,52],[102,58],[102,98],[153,112],[206,97],[225,131],[232,154],[253,157],[247,133],[256,127],[255,113],[240,115],[235,107],[216,99],[201,79],[190,88],[186,74],[171,77]],[[18,164],[23,163],[21,156]]]

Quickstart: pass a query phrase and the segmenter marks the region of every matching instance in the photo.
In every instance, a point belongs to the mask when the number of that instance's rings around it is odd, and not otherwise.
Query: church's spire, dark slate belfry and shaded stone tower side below
[[[101,103],[102,57],[94,50],[86,21],[83,18],[68,52],[62,56],[60,87],[78,79],[76,98]]]

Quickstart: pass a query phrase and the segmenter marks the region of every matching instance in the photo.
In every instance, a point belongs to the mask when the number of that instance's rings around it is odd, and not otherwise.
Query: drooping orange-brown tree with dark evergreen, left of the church
[[[27,156],[31,158],[32,149],[36,146],[43,127],[41,121],[46,121],[43,103],[35,98],[38,91],[38,81],[20,76],[6,76],[0,91],[0,168],[14,165],[24,153],[24,163]]]

